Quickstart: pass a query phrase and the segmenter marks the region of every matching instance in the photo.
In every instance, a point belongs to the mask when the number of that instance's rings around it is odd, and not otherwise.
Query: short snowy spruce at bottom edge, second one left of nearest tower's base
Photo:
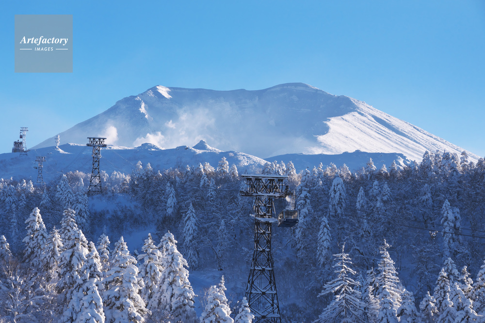
[[[231,309],[227,306],[227,298],[217,286],[210,286],[207,304],[200,317],[201,323],[234,323],[230,317]]]

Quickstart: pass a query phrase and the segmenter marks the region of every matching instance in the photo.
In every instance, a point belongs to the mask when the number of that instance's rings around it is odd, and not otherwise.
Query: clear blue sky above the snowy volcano
[[[16,14],[73,15],[73,73],[14,73]],[[485,156],[483,0],[8,1],[0,26],[0,153],[155,85],[304,82]]]

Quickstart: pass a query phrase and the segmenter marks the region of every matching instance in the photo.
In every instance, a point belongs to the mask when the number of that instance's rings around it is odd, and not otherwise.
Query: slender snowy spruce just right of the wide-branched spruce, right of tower
[[[392,302],[395,311],[401,306],[403,287],[399,278],[397,277],[397,271],[394,267],[394,261],[389,256],[388,248],[390,246],[384,239],[384,244],[379,247],[379,253],[381,254],[381,260],[378,264],[378,274],[375,277],[376,291],[375,294],[379,297],[382,303],[384,289],[389,294],[388,299]],[[387,304],[387,303],[386,303]],[[381,304],[382,307],[382,304]]]

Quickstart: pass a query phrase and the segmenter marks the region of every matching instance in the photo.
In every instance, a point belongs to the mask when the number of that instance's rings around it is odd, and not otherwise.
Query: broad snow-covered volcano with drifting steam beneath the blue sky
[[[61,143],[78,144],[97,136],[126,147],[147,142],[173,148],[205,139],[224,151],[259,157],[360,150],[420,160],[425,150],[464,150],[364,102],[303,83],[258,91],[155,86],[60,134]],[[53,144],[49,138],[34,149]]]

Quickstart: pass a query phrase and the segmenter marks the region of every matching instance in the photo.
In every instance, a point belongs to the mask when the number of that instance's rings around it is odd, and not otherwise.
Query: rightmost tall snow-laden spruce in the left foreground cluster
[[[162,277],[148,306],[169,311],[175,322],[194,322],[195,294],[189,282],[187,261],[178,252],[176,244],[174,235],[167,232],[158,245],[162,251]]]

